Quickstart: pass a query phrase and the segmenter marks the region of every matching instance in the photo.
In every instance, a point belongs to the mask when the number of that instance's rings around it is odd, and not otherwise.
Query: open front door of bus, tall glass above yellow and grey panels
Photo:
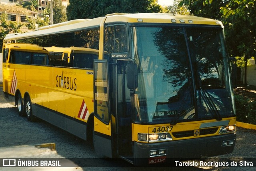
[[[112,157],[108,61],[94,61],[94,149],[99,157]]]

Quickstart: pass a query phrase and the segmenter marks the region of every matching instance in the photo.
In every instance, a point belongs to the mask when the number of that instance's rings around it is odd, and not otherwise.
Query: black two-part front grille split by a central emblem
[[[218,129],[219,128],[200,129],[200,136],[208,135],[208,134],[215,134],[218,131]],[[181,131],[181,132],[173,132],[172,135],[175,138],[193,137],[194,136],[194,130]]]

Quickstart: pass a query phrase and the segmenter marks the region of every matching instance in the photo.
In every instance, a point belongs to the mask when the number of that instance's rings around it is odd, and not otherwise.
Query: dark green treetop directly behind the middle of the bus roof
[[[157,0],[70,0],[69,3],[68,20],[97,18],[115,12],[162,12],[162,7],[157,4]]]

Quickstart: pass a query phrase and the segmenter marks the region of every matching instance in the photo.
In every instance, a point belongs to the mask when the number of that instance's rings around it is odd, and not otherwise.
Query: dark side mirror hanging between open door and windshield
[[[136,89],[138,87],[138,66],[136,63],[127,63],[127,88]]]

